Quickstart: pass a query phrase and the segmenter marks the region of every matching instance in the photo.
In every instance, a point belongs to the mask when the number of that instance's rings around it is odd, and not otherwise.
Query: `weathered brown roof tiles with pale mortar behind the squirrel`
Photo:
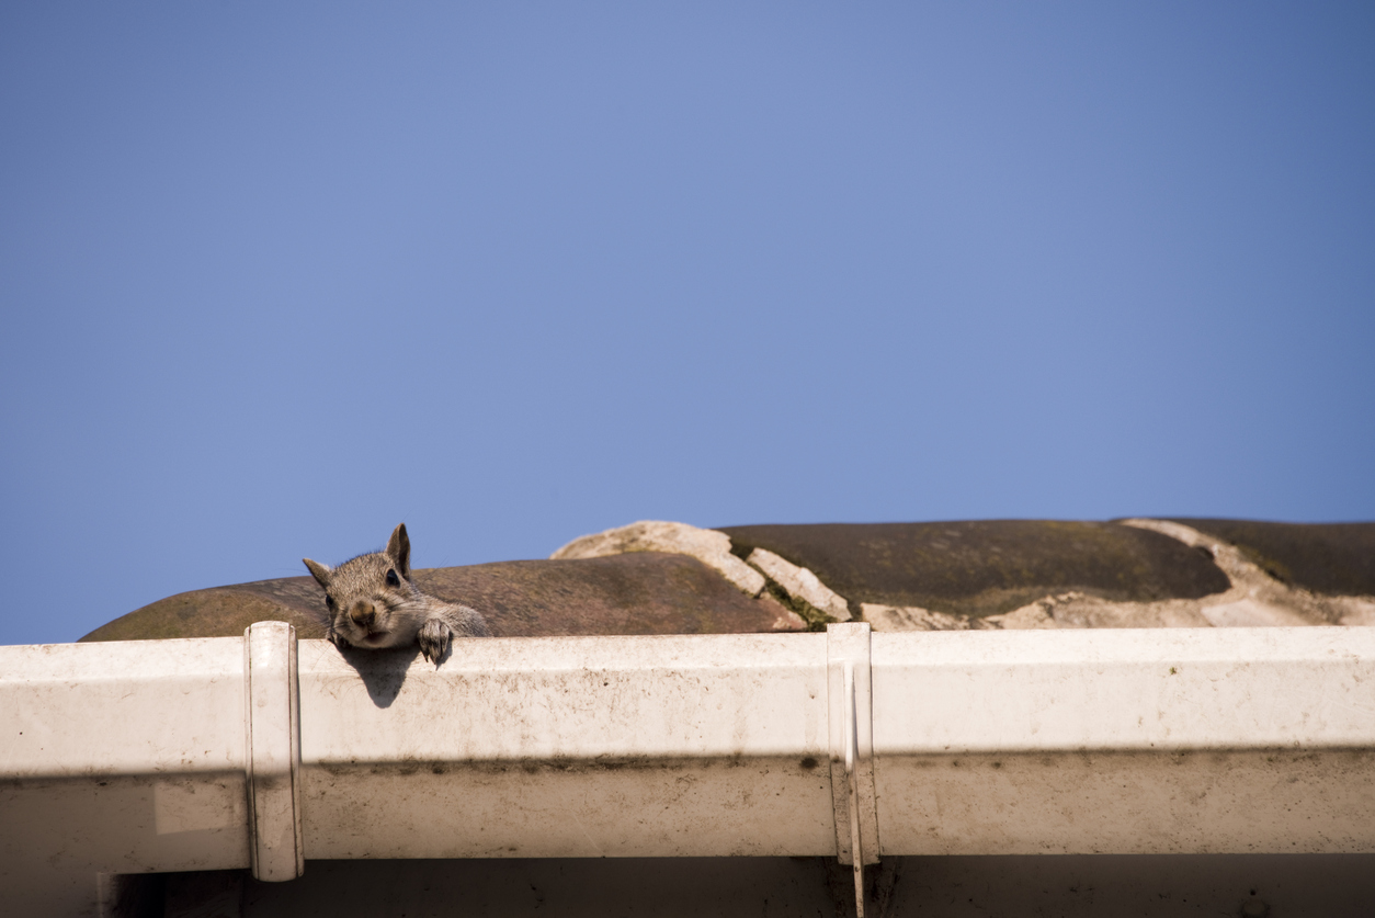
[[[767,577],[755,573],[769,557]],[[498,636],[754,633],[846,619],[879,630],[1361,625],[1375,623],[1375,523],[637,523],[575,540],[551,560],[418,570],[415,581],[477,608]],[[238,636],[256,621],[323,637],[323,595],[309,577],[192,590],[82,640]]]

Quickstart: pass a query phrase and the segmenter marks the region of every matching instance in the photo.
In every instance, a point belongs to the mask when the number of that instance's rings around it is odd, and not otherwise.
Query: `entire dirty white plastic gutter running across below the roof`
[[[1375,629],[490,639],[436,670],[264,622],[0,647],[0,731],[12,914],[304,859],[1375,851]]]

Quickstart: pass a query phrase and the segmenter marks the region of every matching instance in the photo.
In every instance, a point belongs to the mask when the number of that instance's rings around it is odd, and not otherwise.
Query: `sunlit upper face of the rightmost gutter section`
[[[1370,747],[1375,629],[874,634],[874,754]]]

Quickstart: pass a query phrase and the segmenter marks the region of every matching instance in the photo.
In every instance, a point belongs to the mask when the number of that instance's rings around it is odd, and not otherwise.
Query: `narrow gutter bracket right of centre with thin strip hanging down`
[[[879,863],[873,784],[873,690],[869,625],[826,625],[826,705],[836,853],[854,867],[855,912],[864,918],[864,866]]]

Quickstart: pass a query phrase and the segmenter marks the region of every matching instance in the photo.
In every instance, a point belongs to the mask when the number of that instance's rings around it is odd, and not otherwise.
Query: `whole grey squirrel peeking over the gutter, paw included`
[[[392,531],[386,551],[359,555],[338,567],[308,557],[307,570],[324,588],[336,647],[402,647],[418,641],[439,666],[454,637],[491,637],[477,610],[428,596],[411,579],[411,540],[406,523]]]

